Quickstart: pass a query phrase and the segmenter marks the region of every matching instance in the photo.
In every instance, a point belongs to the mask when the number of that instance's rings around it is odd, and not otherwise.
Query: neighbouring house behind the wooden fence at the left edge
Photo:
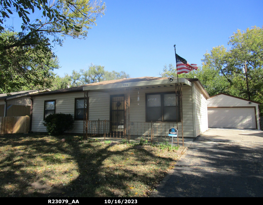
[[[50,89],[0,94],[0,117],[29,116],[31,106],[29,95],[45,91],[50,91]]]

